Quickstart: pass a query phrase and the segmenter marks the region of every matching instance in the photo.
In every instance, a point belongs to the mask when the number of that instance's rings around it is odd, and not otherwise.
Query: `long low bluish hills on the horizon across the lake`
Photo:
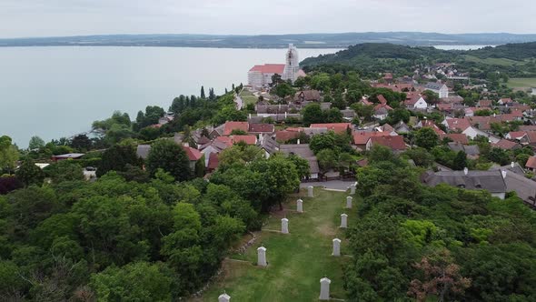
[[[84,35],[0,39],[0,46],[168,46],[281,48],[345,48],[362,43],[397,45],[503,45],[536,41],[536,35],[459,34],[420,32],[290,34],[290,35]]]

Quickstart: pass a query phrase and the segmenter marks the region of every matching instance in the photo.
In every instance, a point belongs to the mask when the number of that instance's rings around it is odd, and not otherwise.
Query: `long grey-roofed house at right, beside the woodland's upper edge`
[[[468,190],[487,190],[491,196],[504,199],[507,192],[506,183],[500,170],[491,171],[440,171],[426,172],[422,176],[422,183],[426,186],[447,184]]]

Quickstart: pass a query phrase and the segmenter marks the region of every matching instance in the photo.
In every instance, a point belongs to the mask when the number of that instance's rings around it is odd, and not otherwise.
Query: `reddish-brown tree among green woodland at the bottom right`
[[[448,249],[422,257],[415,267],[421,271],[422,277],[412,280],[408,296],[417,301],[426,301],[430,295],[436,296],[440,302],[451,300],[450,295],[462,293],[471,285],[471,279],[460,274],[460,267],[453,263]]]

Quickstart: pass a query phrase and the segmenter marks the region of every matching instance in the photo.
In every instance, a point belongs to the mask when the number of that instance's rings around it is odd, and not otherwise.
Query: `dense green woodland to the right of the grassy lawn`
[[[369,162],[349,230],[352,301],[536,299],[536,214],[520,198],[422,186],[422,170],[382,147]]]

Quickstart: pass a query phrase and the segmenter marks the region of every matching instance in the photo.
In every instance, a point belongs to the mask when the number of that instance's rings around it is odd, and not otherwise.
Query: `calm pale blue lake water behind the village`
[[[300,59],[336,49],[299,49]],[[131,119],[174,96],[247,83],[255,64],[284,63],[284,49],[0,47],[0,136],[26,147],[89,130],[114,110]]]

